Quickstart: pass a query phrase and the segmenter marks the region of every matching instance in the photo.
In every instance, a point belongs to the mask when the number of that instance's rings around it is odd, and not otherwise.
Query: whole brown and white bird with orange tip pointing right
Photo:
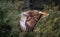
[[[33,31],[35,25],[40,18],[48,16],[48,13],[37,11],[37,10],[28,10],[22,12],[20,16],[20,27],[22,31]]]

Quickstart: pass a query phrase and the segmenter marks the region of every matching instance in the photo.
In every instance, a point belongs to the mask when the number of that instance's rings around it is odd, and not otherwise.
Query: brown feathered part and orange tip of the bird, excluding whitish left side
[[[27,14],[25,15],[27,18],[25,21],[25,26],[26,26],[26,30],[28,31],[33,31],[35,25],[37,24],[40,18],[48,16],[48,13],[37,11],[37,10],[29,10],[26,12]]]

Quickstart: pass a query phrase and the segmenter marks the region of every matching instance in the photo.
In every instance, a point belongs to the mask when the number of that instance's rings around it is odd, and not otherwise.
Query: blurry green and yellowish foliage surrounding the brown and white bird
[[[27,8],[24,1],[0,0],[0,37],[60,37],[60,4],[58,1],[41,0],[44,3],[43,11],[49,13],[49,16],[40,19],[33,32],[23,33],[20,30],[19,18],[20,13]]]

